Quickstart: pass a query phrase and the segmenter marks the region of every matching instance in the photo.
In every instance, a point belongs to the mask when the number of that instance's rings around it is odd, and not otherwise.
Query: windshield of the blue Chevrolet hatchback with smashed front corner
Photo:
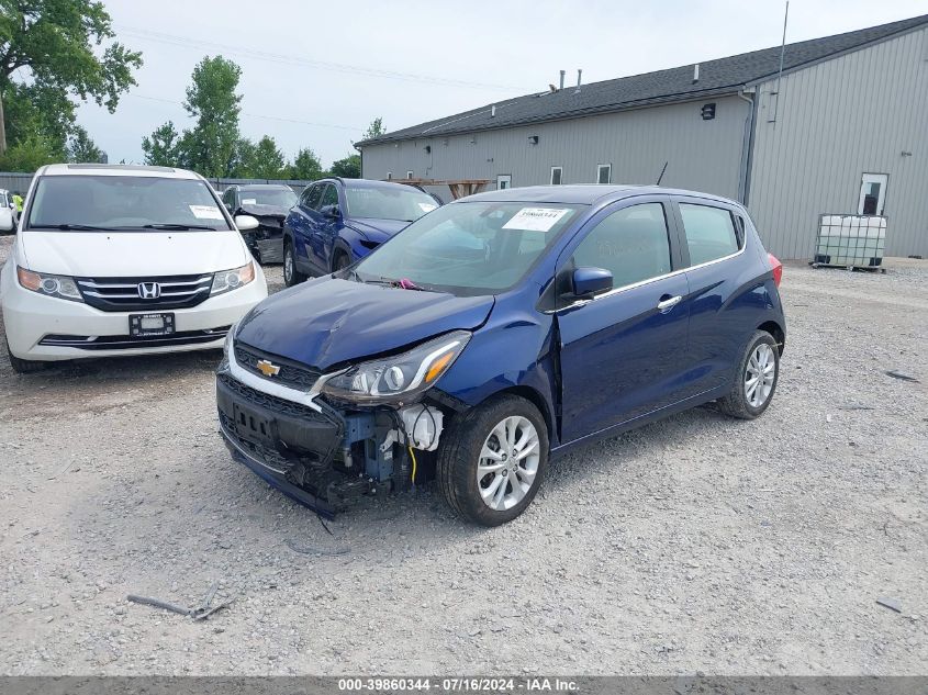
[[[411,281],[426,290],[495,294],[522,280],[579,210],[545,203],[445,205],[365,258],[356,276],[362,282]]]

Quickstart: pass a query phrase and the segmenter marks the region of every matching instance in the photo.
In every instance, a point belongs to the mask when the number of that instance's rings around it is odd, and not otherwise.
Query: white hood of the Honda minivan
[[[188,276],[238,268],[236,232],[38,232],[20,234],[31,270],[89,278]]]

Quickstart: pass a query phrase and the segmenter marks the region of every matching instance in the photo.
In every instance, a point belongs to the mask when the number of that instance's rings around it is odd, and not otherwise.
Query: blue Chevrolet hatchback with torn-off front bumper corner
[[[323,514],[434,479],[465,518],[503,524],[573,447],[708,401],[761,415],[781,272],[745,209],[714,195],[471,195],[230,330],[222,434]]]

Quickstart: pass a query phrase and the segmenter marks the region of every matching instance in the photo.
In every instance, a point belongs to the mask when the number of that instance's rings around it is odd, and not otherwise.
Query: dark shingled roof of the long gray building
[[[786,44],[783,71],[796,70],[924,25],[928,25],[928,14],[846,34]],[[774,46],[700,63],[700,79],[696,82],[693,81],[691,64],[645,75],[590,82],[583,85],[579,91],[577,87],[571,86],[556,92],[526,94],[361,141],[356,143],[356,146],[473,133],[731,93],[775,76],[780,70],[780,53],[781,47]]]

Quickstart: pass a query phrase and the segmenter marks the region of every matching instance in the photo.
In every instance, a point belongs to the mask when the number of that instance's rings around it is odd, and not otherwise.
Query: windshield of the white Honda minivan
[[[80,232],[228,229],[199,179],[144,176],[43,176],[29,228]]]

